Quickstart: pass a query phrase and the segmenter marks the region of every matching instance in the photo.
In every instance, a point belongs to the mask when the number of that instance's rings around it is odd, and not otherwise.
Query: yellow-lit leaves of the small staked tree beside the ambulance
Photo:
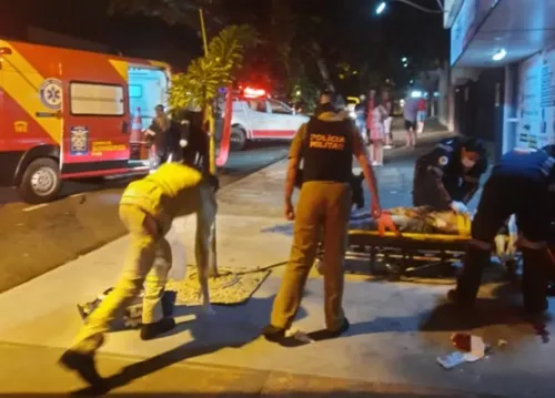
[[[170,106],[205,108],[218,90],[230,84],[243,67],[244,51],[258,43],[250,25],[224,28],[209,44],[208,57],[191,62],[185,73],[176,73],[170,88]]]

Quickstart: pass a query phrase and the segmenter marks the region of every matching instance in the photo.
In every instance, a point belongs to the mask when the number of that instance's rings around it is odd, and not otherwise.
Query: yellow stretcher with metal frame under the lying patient
[[[370,214],[357,216],[359,221],[364,217],[369,220],[365,227],[361,227],[361,223],[356,223],[356,218],[354,223],[352,221],[350,224],[345,253],[345,272],[347,273],[385,274],[392,278],[433,273],[433,276],[451,277],[456,272],[454,265],[461,264],[471,241],[471,217],[467,215],[450,218],[457,224],[455,226],[444,225],[443,228],[421,226],[422,231],[416,232],[402,232],[396,228],[384,231],[384,225],[380,225],[381,223],[370,225],[372,224]],[[424,217],[427,216],[424,215]],[[391,227],[391,225],[389,226]],[[500,238],[508,243],[507,232],[501,232],[497,239]],[[505,246],[508,247],[508,245]],[[516,253],[513,253],[512,256],[503,255],[503,263],[509,273],[514,272],[516,267]],[[323,247],[320,245],[316,266],[322,262]],[[363,269],[351,267],[350,263],[353,262],[367,264],[367,266],[364,266]]]

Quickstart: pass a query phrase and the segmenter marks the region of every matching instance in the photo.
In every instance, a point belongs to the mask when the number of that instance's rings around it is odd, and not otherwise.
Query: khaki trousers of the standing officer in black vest
[[[351,215],[351,187],[335,182],[305,182],[296,205],[293,245],[283,280],[275,297],[271,324],[290,328],[303,296],[306,278],[314,264],[323,231],[324,313],[329,330],[344,322],[343,259]]]

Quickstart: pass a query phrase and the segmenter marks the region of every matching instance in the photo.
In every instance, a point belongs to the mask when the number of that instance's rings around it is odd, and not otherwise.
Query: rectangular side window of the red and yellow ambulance
[[[122,116],[123,86],[98,83],[70,83],[71,114]]]

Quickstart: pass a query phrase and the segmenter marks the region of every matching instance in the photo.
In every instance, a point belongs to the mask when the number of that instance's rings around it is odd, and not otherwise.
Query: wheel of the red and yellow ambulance
[[[56,200],[62,184],[59,169],[58,162],[53,159],[41,157],[32,161],[27,166],[19,185],[21,198],[31,204]]]

